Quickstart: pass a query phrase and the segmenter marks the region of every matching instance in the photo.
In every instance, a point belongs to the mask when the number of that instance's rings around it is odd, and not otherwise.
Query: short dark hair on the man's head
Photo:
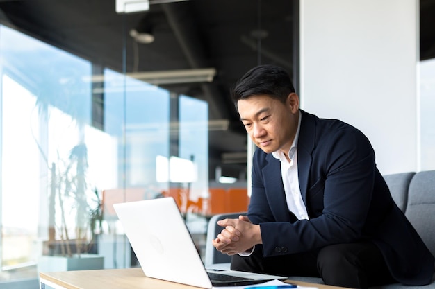
[[[290,76],[284,69],[274,65],[260,65],[250,69],[230,90],[236,107],[238,100],[256,95],[268,95],[285,103],[292,92],[295,92],[295,88]]]

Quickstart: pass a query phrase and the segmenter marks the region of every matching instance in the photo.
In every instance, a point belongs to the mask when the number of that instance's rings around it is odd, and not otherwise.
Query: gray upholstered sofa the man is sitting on
[[[404,211],[430,252],[435,256],[435,170],[422,171],[419,173],[385,175],[384,178],[397,206]],[[237,218],[237,216],[238,213],[231,213],[221,214],[211,218],[208,224],[206,254],[204,259],[206,268],[216,270],[229,268],[229,256],[217,252],[211,245],[211,239],[222,229],[215,225],[217,220],[222,218]],[[312,277],[291,276],[289,279],[323,283],[322,279]],[[387,286],[376,286],[370,289],[405,288],[434,289],[435,272],[432,277],[432,283],[427,286],[404,286],[400,283],[395,283]]]

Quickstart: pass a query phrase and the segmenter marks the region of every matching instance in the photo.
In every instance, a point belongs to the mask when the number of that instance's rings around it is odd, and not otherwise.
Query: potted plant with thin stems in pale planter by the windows
[[[102,269],[97,234],[103,218],[98,189],[87,183],[88,152],[81,142],[67,159],[51,163],[49,240],[44,242],[40,270]]]

